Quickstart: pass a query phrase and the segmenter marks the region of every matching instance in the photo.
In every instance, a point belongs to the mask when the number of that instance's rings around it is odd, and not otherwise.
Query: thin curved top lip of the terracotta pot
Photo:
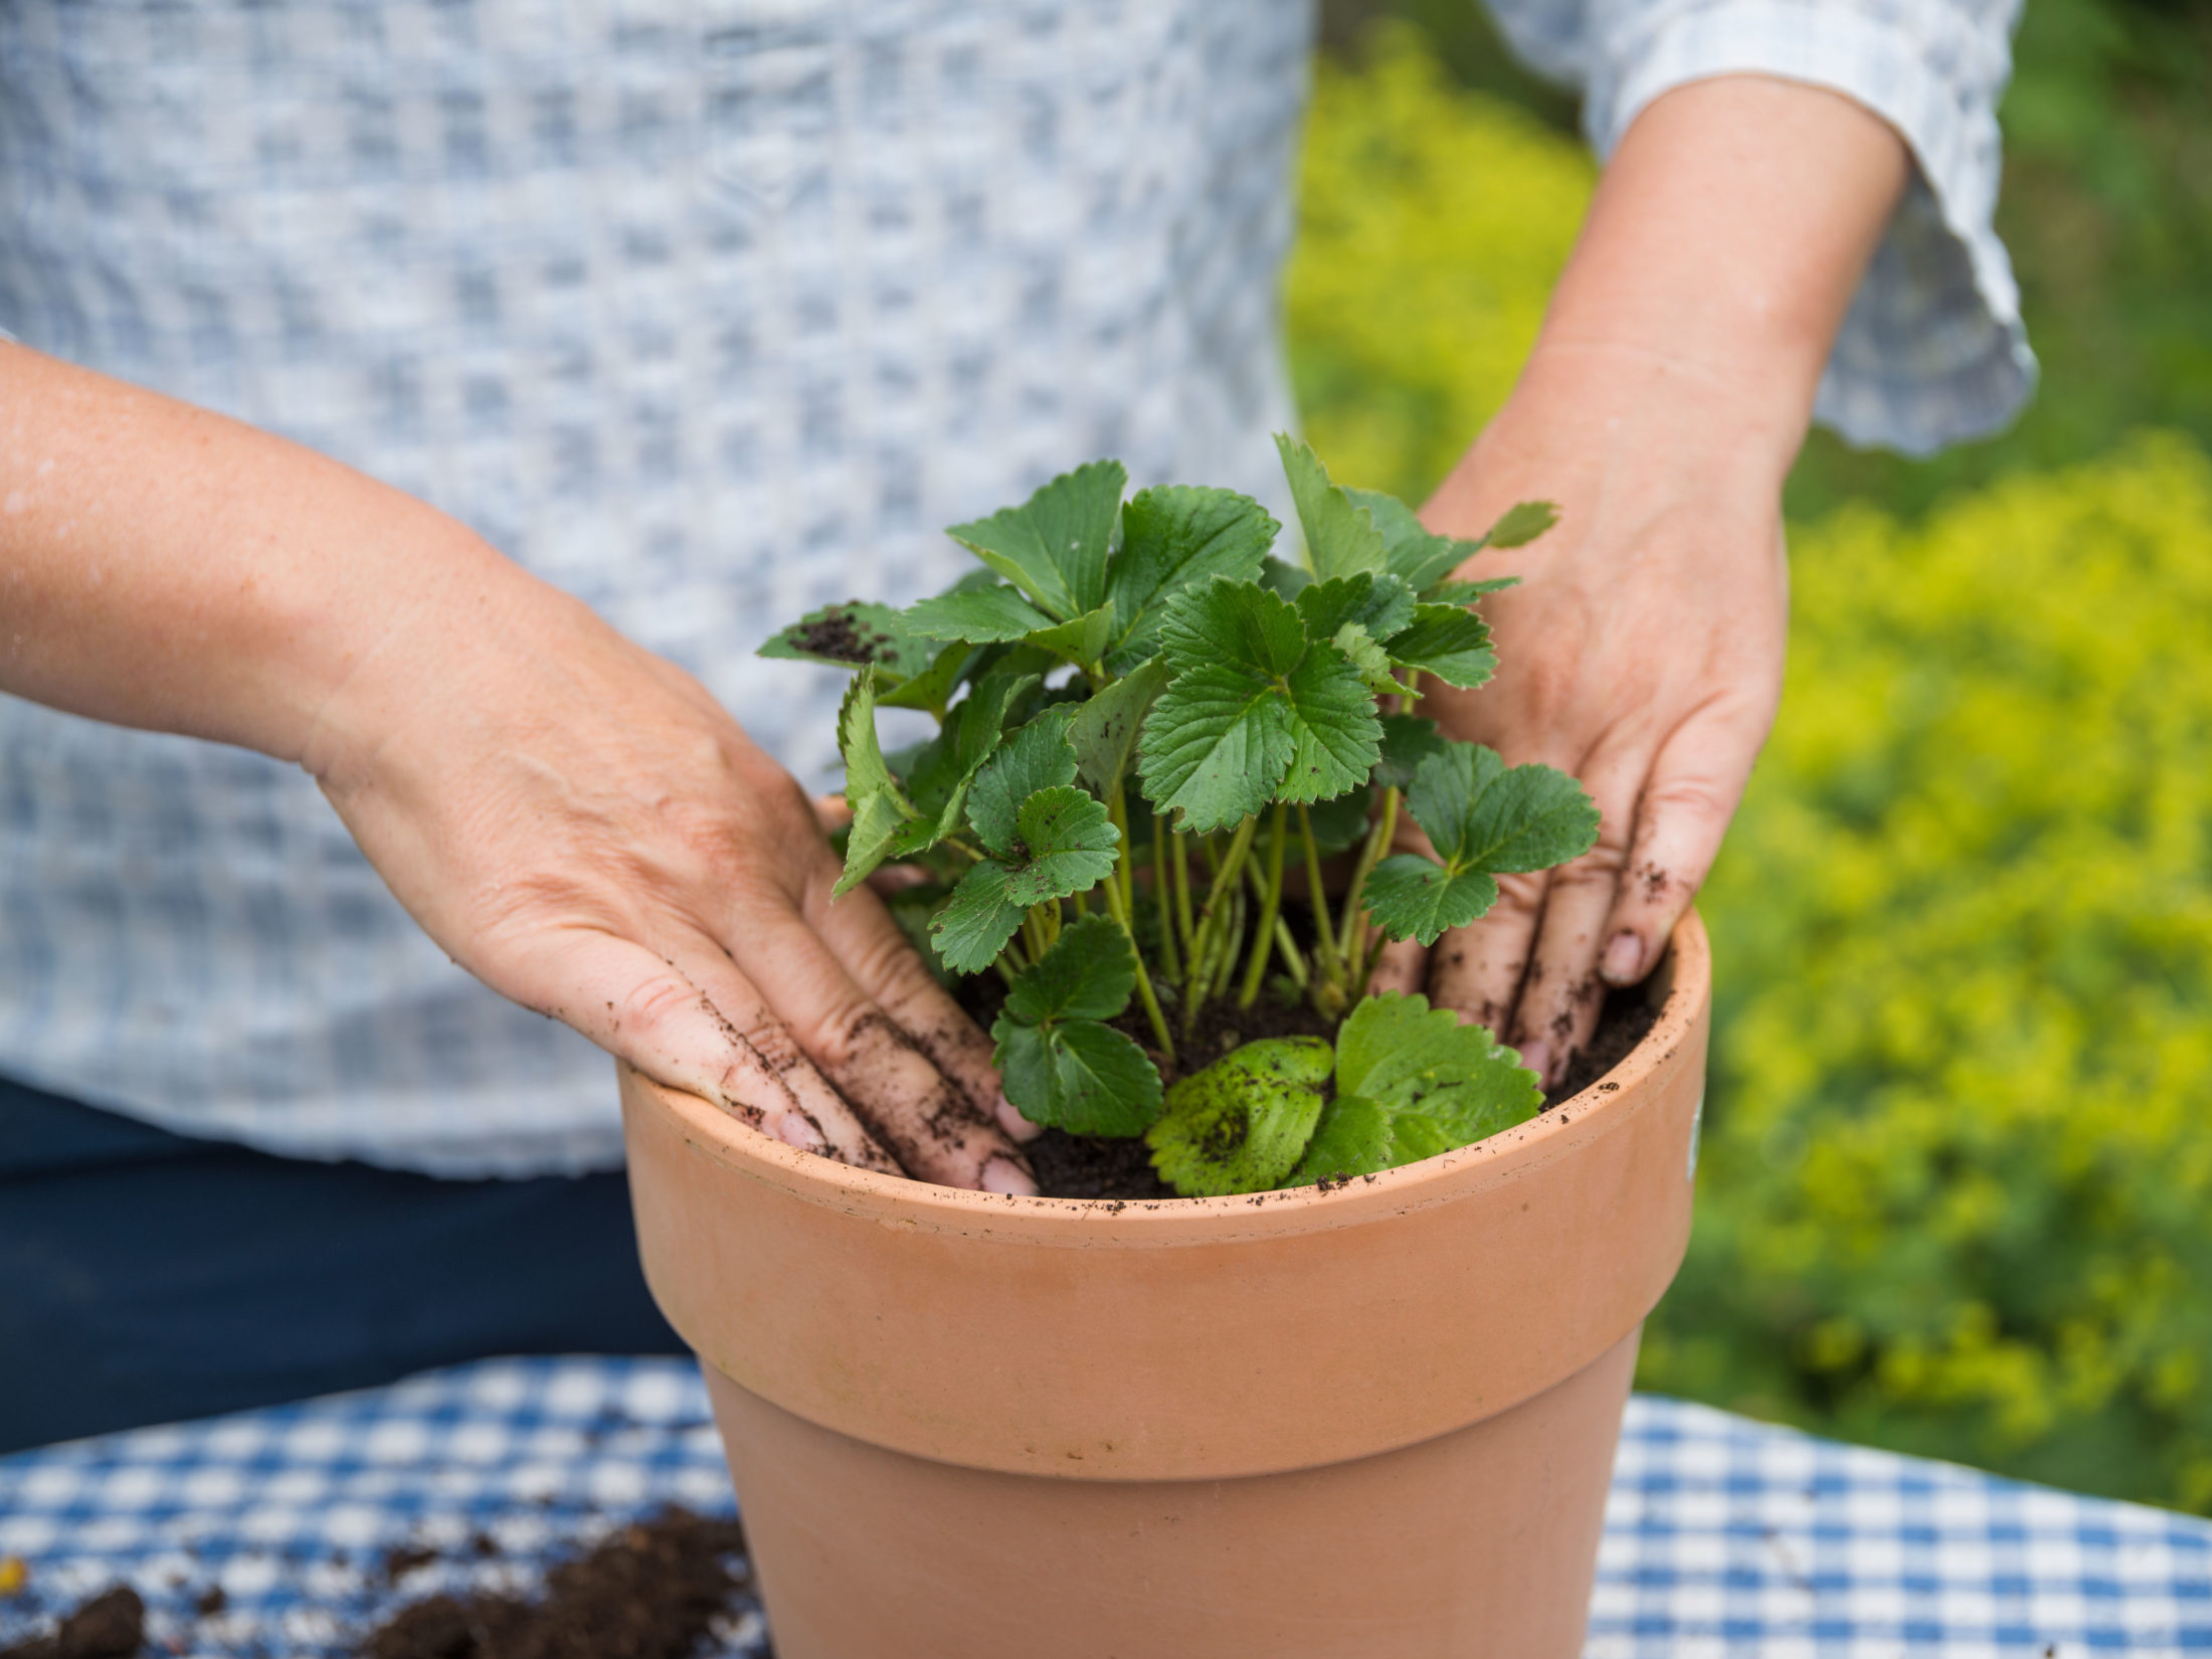
[[[872,1217],[887,1225],[1000,1237],[1022,1243],[1068,1245],[1183,1245],[1225,1243],[1241,1234],[1281,1237],[1316,1228],[1383,1221],[1431,1203],[1517,1179],[1573,1155],[1635,1115],[1648,1097],[1639,1088],[1666,1066],[1690,1033],[1712,978],[1712,949],[1697,909],[1683,911],[1668,953],[1648,984],[1663,989],[1659,1018],[1644,1040],[1601,1079],[1526,1124],[1418,1164],[1354,1177],[1329,1188],[1301,1186],[1241,1192],[1219,1199],[1053,1199],[878,1175],[785,1146],[737,1113],[648,1077],[646,1093],[675,1113],[684,1137],[706,1157],[790,1197]],[[628,1071],[628,1066],[624,1066]]]

